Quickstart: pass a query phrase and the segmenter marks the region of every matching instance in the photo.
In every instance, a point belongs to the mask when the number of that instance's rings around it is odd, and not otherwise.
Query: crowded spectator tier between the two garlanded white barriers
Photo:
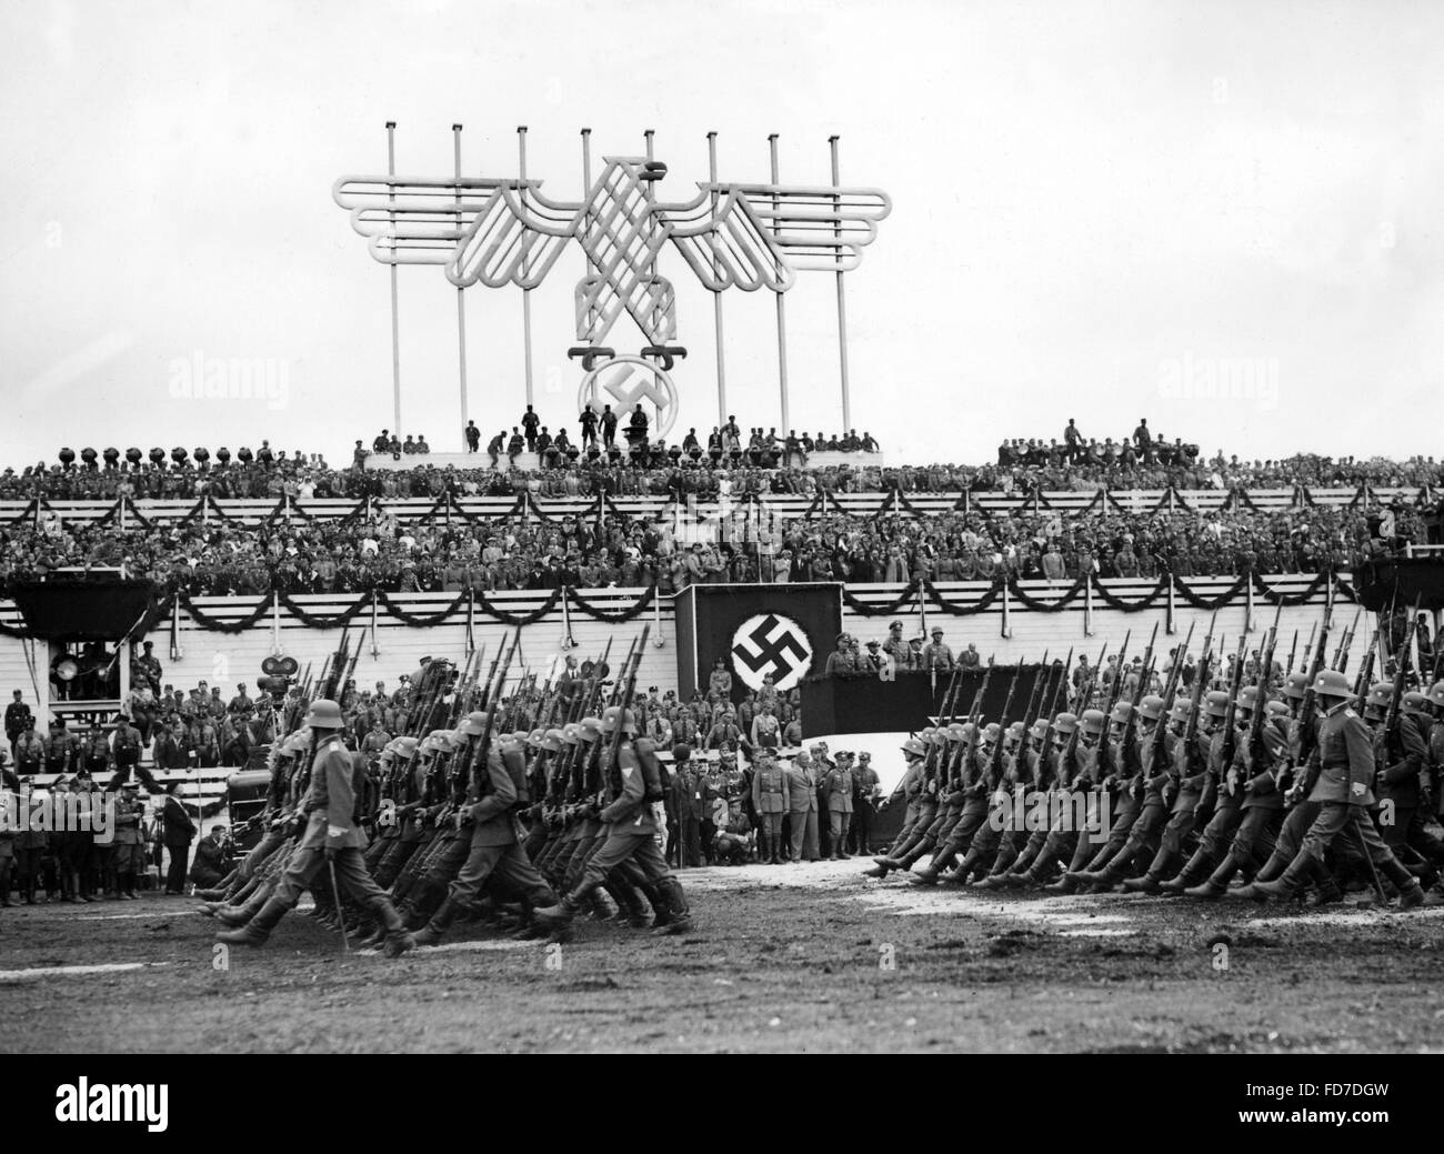
[[[124,566],[192,594],[459,592],[461,589],[637,588],[697,582],[986,581],[998,575],[1074,581],[1315,573],[1353,569],[1422,542],[1424,510],[1395,507],[1232,508],[1196,513],[1067,513],[921,517],[843,516],[725,521],[697,543],[687,523],[595,516],[401,523],[279,520],[245,527],[130,527],[65,523],[46,514],[0,530],[0,588],[16,581]],[[1382,534],[1382,536],[1380,536]]]

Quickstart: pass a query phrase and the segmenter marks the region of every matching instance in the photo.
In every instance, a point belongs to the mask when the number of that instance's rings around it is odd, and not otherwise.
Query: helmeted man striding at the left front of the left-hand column
[[[215,940],[235,946],[263,945],[276,923],[296,906],[302,890],[312,888],[323,872],[329,872],[352,900],[373,908],[386,930],[386,956],[399,958],[416,940],[406,932],[391,900],[375,884],[361,859],[365,836],[357,825],[357,786],[358,781],[365,781],[365,765],[360,758],[352,758],[341,744],[341,729],[345,726],[341,706],[318,698],[310,703],[302,725],[310,729],[316,742],[310,786],[300,803],[306,832],[260,911],[240,929],[218,933]]]

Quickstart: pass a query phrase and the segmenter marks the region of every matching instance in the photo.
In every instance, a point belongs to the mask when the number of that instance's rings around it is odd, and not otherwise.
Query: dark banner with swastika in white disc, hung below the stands
[[[693,585],[677,594],[679,692],[705,695],[716,670],[732,700],[767,677],[794,689],[823,672],[840,630],[840,585]]]

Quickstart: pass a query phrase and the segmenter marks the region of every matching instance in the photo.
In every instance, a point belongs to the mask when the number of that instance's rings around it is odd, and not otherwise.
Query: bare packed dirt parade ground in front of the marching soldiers
[[[1437,1051],[1444,908],[921,890],[868,862],[683,872],[686,937],[453,927],[397,962],[191,898],[0,911],[0,1051]],[[305,908],[305,907],[303,907]]]

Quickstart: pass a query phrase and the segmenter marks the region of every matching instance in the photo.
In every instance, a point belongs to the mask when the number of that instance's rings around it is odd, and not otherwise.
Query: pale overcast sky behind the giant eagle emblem
[[[846,277],[853,425],[894,459],[1005,436],[1248,456],[1435,454],[1444,413],[1437,3],[33,3],[0,10],[0,461],[61,445],[321,451],[391,426],[388,279],[344,173],[529,175],[576,198],[578,131],[663,199],[827,178],[894,201]],[[716,419],[710,298],[680,257],[682,429]],[[536,292],[543,420],[575,425],[573,248]],[[459,448],[456,292],[400,273],[401,432]],[[771,293],[725,296],[729,409],[778,423]],[[836,296],[787,296],[793,423],[842,425]],[[466,293],[471,415],[524,403],[521,299]],[[641,344],[630,322],[612,344]],[[191,400],[266,361],[271,400]],[[1210,399],[1219,383],[1240,396]],[[282,394],[283,391],[283,394]],[[575,428],[573,428],[575,435]]]

